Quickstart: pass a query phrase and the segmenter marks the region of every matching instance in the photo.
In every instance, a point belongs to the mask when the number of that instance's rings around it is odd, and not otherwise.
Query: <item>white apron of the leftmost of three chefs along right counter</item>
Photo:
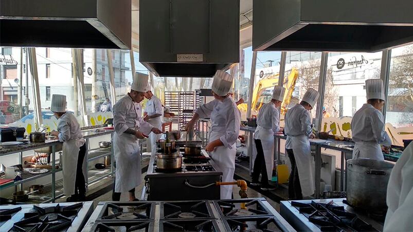
[[[273,129],[265,129],[258,126],[255,130],[254,139],[261,140],[262,150],[264,151],[265,168],[268,180],[273,176],[274,168],[274,132]]]

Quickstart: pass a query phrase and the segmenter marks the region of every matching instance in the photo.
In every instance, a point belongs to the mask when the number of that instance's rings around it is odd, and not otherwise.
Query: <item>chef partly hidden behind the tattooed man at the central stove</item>
[[[143,120],[145,120],[145,122],[148,122],[155,128],[162,128],[162,103],[155,95],[152,94],[151,90],[145,93],[145,98],[149,101],[146,103],[145,112],[143,112],[143,115],[145,115],[145,118]],[[148,150],[150,149],[152,154],[156,153],[156,141],[158,141],[159,138],[160,134],[149,134],[148,139],[150,145],[148,146]]]

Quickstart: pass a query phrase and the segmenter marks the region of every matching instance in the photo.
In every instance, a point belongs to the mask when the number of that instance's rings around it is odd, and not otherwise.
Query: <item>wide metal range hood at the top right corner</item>
[[[374,52],[413,42],[413,1],[254,0],[255,51]]]

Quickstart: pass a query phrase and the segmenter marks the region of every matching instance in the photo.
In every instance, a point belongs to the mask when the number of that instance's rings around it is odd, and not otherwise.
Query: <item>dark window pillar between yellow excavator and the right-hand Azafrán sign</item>
[[[320,94],[320,96],[317,101],[317,112],[316,112],[316,123],[315,123],[317,131],[321,130],[322,106],[324,105],[324,92],[326,89],[327,60],[328,60],[328,52],[321,53],[320,79],[318,82],[318,93]]]

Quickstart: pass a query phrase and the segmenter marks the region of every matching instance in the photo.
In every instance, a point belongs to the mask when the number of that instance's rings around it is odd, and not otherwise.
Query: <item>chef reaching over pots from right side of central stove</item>
[[[234,78],[222,70],[213,76],[212,94],[214,100],[196,109],[186,130],[192,130],[200,118],[211,119],[209,142],[205,147],[210,157],[223,173],[222,181],[234,181],[236,142],[240,132],[240,112],[229,91]],[[221,186],[221,199],[231,199],[232,185]]]

